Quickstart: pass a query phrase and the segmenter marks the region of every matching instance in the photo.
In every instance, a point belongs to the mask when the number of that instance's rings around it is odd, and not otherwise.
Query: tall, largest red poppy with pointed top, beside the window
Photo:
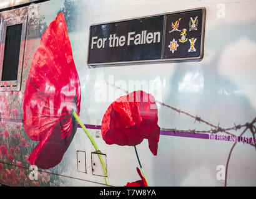
[[[62,12],[42,35],[24,93],[24,129],[40,141],[29,162],[49,169],[61,162],[76,133],[81,88]]]

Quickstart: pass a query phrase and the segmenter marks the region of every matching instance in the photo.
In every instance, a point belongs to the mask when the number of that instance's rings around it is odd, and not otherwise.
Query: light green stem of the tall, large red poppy
[[[76,111],[73,111],[72,116],[74,116],[74,118],[76,118],[76,121],[80,124],[80,126],[82,127],[82,129],[84,130],[84,132],[86,132],[87,137],[89,138],[89,140],[92,142],[92,145],[94,146],[96,152],[99,151],[99,148],[97,147],[96,142],[94,141],[94,139],[92,138],[91,134],[89,133],[89,131],[86,129],[86,127],[84,126],[84,124],[81,122],[79,116],[77,116]],[[106,185],[109,186],[109,180],[107,179],[107,170],[106,170],[106,166],[104,164],[104,160],[102,159],[101,154],[98,154],[99,156],[99,160],[101,161],[101,165],[102,165],[102,169],[105,175],[105,182]]]

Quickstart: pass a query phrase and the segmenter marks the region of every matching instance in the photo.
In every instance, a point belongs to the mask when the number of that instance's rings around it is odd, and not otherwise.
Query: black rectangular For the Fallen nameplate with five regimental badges
[[[91,25],[88,65],[200,60],[205,9]]]

